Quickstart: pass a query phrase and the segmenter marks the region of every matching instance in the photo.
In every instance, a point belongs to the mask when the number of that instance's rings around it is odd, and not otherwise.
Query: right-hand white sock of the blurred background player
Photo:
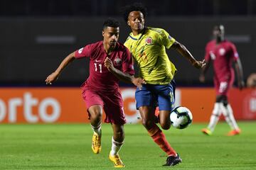
[[[224,106],[222,104],[221,108],[223,110],[223,115],[225,116],[225,120],[228,123],[228,125],[230,125],[230,128],[233,130],[238,129],[238,124],[235,121],[233,110],[230,104],[228,104],[227,106]]]

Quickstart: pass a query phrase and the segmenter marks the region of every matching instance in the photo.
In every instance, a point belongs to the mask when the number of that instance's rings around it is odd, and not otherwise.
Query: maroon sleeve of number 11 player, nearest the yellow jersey
[[[122,62],[122,70],[124,73],[134,75],[134,65],[132,60],[132,54],[127,48],[125,48],[123,53],[124,62]]]

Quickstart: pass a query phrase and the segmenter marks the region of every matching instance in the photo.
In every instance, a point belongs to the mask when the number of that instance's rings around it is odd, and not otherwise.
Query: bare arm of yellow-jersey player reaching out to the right
[[[171,48],[176,50],[178,53],[180,53],[183,57],[186,57],[189,62],[193,65],[193,67],[196,67],[197,69],[203,68],[206,66],[205,60],[198,61],[196,60],[193,55],[186,49],[184,45],[182,45],[180,42],[175,41],[173,45],[171,45]]]

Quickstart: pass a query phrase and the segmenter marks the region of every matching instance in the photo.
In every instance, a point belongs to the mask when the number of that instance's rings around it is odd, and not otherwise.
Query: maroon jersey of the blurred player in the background
[[[216,45],[215,40],[206,45],[206,62],[213,62],[215,79],[230,79],[233,76],[232,62],[238,60],[238,52],[233,43],[224,40]]]

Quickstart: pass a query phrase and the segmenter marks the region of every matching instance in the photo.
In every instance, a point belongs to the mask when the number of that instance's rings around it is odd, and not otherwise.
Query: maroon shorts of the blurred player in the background
[[[214,86],[216,94],[228,96],[228,91],[233,86],[234,83],[234,76],[231,74],[230,77],[225,77],[223,79],[217,79],[214,77]]]

